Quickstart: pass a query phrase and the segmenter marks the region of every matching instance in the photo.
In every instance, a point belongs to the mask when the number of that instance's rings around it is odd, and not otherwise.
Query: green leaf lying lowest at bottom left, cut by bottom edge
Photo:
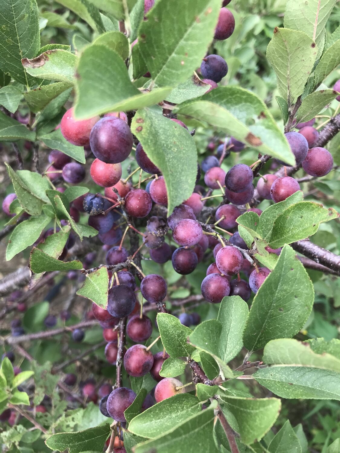
[[[58,450],[59,452],[63,452],[67,448],[69,453],[102,452],[109,434],[110,425],[107,423],[76,433],[52,434],[45,440],[45,443],[51,450]]]

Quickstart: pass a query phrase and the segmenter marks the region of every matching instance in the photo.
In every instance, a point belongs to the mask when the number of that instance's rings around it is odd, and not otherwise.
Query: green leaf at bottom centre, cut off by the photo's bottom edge
[[[172,398],[175,398],[175,396]],[[169,398],[169,400],[172,398]],[[178,424],[168,434],[161,434],[160,437],[136,445],[135,453],[149,453],[151,451],[178,453],[182,451],[184,445],[185,453],[197,453],[198,445],[204,445],[206,452],[215,452],[216,447],[211,435],[214,426],[214,408],[212,406],[210,405],[209,408],[192,415],[185,423]]]

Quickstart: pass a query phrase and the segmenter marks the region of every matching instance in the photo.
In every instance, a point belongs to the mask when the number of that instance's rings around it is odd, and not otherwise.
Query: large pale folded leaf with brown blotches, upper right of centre
[[[215,88],[180,104],[174,112],[205,121],[262,154],[295,165],[287,139],[267,106],[256,94],[243,88]]]

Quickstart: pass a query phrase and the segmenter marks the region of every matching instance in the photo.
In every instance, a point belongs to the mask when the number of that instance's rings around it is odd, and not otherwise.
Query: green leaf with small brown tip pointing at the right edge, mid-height
[[[262,215],[262,214],[261,214]],[[339,214],[333,208],[303,201],[288,207],[275,220],[268,244],[273,249],[291,244],[313,235],[320,223],[336,219]]]

